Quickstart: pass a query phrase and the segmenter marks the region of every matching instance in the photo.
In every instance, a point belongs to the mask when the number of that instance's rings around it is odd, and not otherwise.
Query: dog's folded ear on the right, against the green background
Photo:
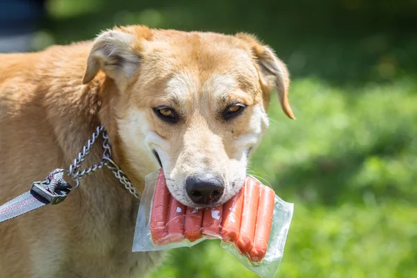
[[[259,66],[261,82],[270,91],[276,88],[281,108],[291,119],[295,119],[291,106],[288,102],[288,88],[290,76],[286,65],[275,55],[274,51],[267,45],[261,44],[253,35],[238,33],[236,37],[245,40],[250,44],[252,54]],[[265,96],[269,100],[269,95]]]

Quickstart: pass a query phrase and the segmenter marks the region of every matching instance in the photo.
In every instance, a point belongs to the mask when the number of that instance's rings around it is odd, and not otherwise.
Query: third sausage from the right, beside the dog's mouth
[[[234,243],[240,233],[240,220],[242,218],[243,198],[245,188],[241,188],[238,194],[223,205],[222,231],[223,241]]]

